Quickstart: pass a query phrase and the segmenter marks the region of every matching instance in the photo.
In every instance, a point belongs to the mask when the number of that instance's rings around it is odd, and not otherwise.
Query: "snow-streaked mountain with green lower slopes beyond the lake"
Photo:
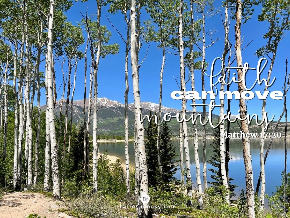
[[[88,117],[88,106],[89,106],[89,99],[86,99],[85,110],[86,110],[86,117]],[[70,119],[70,101],[68,106],[68,119]],[[93,103],[92,102],[92,113],[91,113],[91,122],[90,126],[92,126],[93,120]],[[141,102],[142,106],[142,114],[147,115],[150,111],[159,111],[159,105],[156,103],[151,102]],[[61,107],[61,100],[57,101],[55,104],[55,114],[59,116]],[[79,124],[83,122],[84,115],[84,100],[75,100],[73,101],[73,123]],[[46,110],[46,106],[41,106],[41,110]],[[63,100],[62,105],[62,114],[65,114],[66,110],[66,99]],[[120,103],[119,101],[113,101],[107,98],[98,98],[98,112],[97,112],[97,121],[98,121],[98,134],[115,134],[115,135],[123,135],[124,134],[124,104]],[[162,115],[164,113],[171,113],[171,115],[176,115],[179,113],[180,110],[174,108],[168,108],[162,106],[161,108]],[[188,115],[191,115],[192,111],[187,111]],[[202,112],[197,112],[202,113]],[[207,113],[208,115],[208,113]],[[218,115],[212,115],[213,119],[217,120],[219,117]],[[215,121],[216,122],[216,121]],[[146,125],[146,121],[144,125]],[[134,103],[128,104],[128,124],[129,124],[129,134],[133,134],[134,132]],[[168,124],[171,128],[173,135],[179,134],[179,123],[172,119],[171,122]],[[192,124],[189,122],[189,133],[193,132]],[[198,131],[202,132],[202,126],[198,126]],[[90,131],[92,131],[92,127],[90,127]],[[210,132],[210,130],[209,130]]]

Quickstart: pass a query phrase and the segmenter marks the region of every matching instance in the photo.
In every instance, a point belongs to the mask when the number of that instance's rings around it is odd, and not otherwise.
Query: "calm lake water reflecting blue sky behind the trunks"
[[[289,145],[290,139],[287,139],[287,145]],[[211,140],[207,140],[206,149],[206,159],[209,159],[213,155],[213,149],[209,145]],[[231,139],[230,141],[230,158],[229,161],[229,176],[234,179],[233,184],[238,185],[235,189],[235,193],[238,194],[241,189],[245,188],[245,167],[243,159],[243,149],[242,140]],[[265,140],[265,147],[267,149],[269,140]],[[177,153],[179,155],[179,140],[172,140],[172,144],[177,146]],[[106,149],[108,150],[108,155],[118,156],[122,162],[125,162],[125,151],[124,142],[98,142],[100,153],[103,153]],[[254,188],[256,187],[258,176],[260,174],[260,139],[251,139],[251,157],[253,165],[254,174]],[[264,153],[266,152],[264,150]],[[290,147],[287,148],[287,153],[289,153]],[[189,140],[189,152],[190,152],[190,163],[191,163],[191,176],[194,185],[196,184],[195,178],[195,161],[194,161],[194,148],[193,140]],[[199,140],[199,157],[200,157],[200,169],[202,171],[202,140]],[[129,158],[131,163],[135,163],[134,156],[134,143],[129,142]],[[290,157],[287,158],[287,165],[290,171]],[[207,164],[207,168],[212,167]],[[272,146],[267,157],[265,164],[265,174],[266,174],[266,194],[272,195],[272,192],[276,191],[276,186],[281,184],[281,173],[284,171],[284,139],[274,139]],[[207,172],[207,179],[211,181],[210,171]],[[202,173],[201,173],[202,176]],[[177,172],[177,178],[180,179],[180,171]],[[202,180],[203,178],[201,178]],[[202,180],[203,181],[203,180]],[[202,182],[203,184],[203,182]]]

